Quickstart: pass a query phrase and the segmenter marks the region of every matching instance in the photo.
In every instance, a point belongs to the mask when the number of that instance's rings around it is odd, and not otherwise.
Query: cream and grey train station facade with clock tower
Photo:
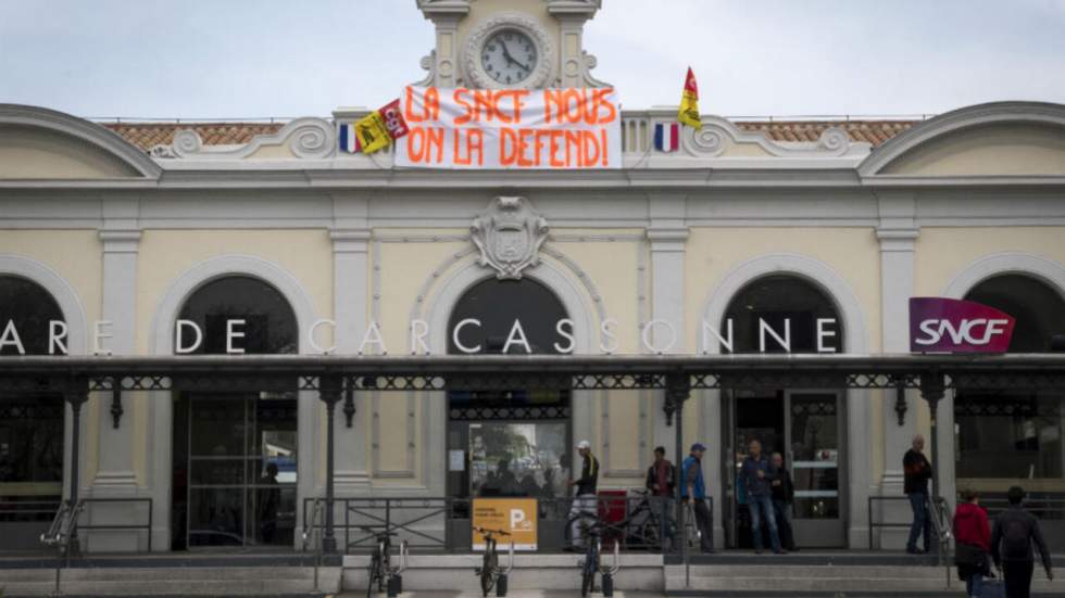
[[[527,87],[609,87],[581,43],[598,2],[418,5],[436,27],[418,86],[496,87],[481,54],[505,34],[536,49]],[[626,109],[621,163],[581,169],[400,167],[394,149],[346,151],[344,127],[367,113],[99,124],[0,105],[0,359],[878,357],[911,353],[922,296],[1010,314],[1019,359],[1065,334],[1065,105],[916,122],[703,115],[676,151],[654,139],[675,109]],[[96,389],[76,430],[62,394],[5,392],[0,527],[14,533],[0,548],[33,546],[72,481],[80,497],[140,500],[96,517],[147,521],[152,550],[284,548],[327,485],[338,498],[552,500],[579,440],[603,491],[642,488],[655,446],[682,458],[662,389],[519,382],[359,387],[336,413],[313,391],[247,380],[118,400]],[[755,386],[696,387],[679,420],[709,447],[718,546],[743,545],[736,471],[759,438],[795,478],[800,546],[900,547],[898,530],[870,526],[870,497],[902,496],[902,456],[934,419],[919,390]],[[1060,386],[948,389],[938,494],[1022,483],[1060,506],[1063,402]],[[85,542],[148,549],[142,529]]]

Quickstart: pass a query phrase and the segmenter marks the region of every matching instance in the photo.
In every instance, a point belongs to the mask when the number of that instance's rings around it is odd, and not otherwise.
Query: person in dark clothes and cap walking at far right
[[[994,560],[994,568],[1002,571],[1006,598],[1029,598],[1031,573],[1036,564],[1031,545],[1035,543],[1039,549],[1047,578],[1053,580],[1050,550],[1039,531],[1039,521],[1022,506],[1024,488],[1011,487],[1006,492],[1006,498],[1010,500],[1010,508],[999,513],[991,531],[991,559]]]

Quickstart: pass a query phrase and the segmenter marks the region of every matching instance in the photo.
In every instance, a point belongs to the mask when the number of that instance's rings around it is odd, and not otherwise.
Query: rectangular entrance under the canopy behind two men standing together
[[[752,440],[780,453],[794,483],[792,527],[800,547],[845,546],[845,480],[841,456],[842,393],[723,391],[723,486],[726,543],[751,547],[751,523],[739,470]]]

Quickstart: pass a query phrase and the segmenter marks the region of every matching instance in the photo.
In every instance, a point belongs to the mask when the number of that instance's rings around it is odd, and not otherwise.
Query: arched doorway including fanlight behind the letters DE
[[[298,352],[291,306],[274,287],[252,277],[203,284],[185,301],[175,327],[178,355]],[[297,407],[295,389],[175,396],[175,550],[292,546]]]

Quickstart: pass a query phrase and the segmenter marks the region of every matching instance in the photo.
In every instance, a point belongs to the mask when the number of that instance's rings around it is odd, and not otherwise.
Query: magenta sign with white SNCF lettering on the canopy
[[[943,297],[910,300],[910,351],[1005,353],[1014,319],[993,307]]]

